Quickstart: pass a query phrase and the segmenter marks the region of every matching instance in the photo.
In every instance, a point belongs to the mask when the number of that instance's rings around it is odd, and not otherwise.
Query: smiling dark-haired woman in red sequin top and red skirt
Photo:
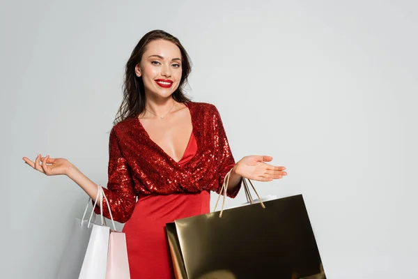
[[[165,224],[209,213],[210,190],[219,193],[227,172],[229,197],[237,195],[242,177],[271,181],[286,175],[284,167],[265,163],[269,156],[235,164],[216,107],[183,93],[190,70],[178,39],[161,30],[141,38],[126,64],[104,193],[114,220],[125,223],[131,278],[173,278]],[[23,159],[47,175],[67,175],[95,199],[98,186],[68,160]]]

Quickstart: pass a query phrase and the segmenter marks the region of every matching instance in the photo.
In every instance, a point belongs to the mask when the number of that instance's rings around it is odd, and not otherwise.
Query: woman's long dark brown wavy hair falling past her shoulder
[[[177,45],[181,53],[182,74],[178,88],[173,92],[173,99],[180,103],[187,103],[190,99],[185,96],[183,91],[187,84],[187,77],[192,70],[192,63],[180,40],[163,30],[153,30],[144,35],[132,51],[132,54],[125,66],[125,81],[123,82],[123,100],[121,107],[116,114],[114,125],[125,120],[137,117],[145,110],[145,89],[142,77],[135,74],[135,66],[141,62],[142,55],[146,51],[147,45],[153,40],[168,40]]]

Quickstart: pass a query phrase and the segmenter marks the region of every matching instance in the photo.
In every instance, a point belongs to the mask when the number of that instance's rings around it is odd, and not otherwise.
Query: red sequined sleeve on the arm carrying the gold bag
[[[226,174],[233,168],[235,165],[235,160],[233,158],[231,147],[229,146],[228,138],[224,130],[224,125],[222,123],[221,116],[219,111],[214,106],[214,113],[212,116],[212,129],[214,129],[214,141],[215,149],[217,149],[217,177],[219,178],[216,183],[212,186],[211,190],[215,190],[216,193],[220,193],[222,190],[222,184],[224,183],[224,178]],[[233,188],[233,191],[228,191],[227,195],[229,197],[236,197],[240,191],[241,183],[238,186]]]

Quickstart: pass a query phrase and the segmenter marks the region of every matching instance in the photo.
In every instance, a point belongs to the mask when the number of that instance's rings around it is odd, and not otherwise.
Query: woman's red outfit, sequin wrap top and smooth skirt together
[[[114,220],[125,223],[132,279],[174,278],[165,224],[208,213],[210,190],[219,193],[235,165],[216,107],[194,102],[186,106],[193,129],[179,162],[150,140],[137,118],[116,124],[110,133],[104,192]],[[107,206],[103,210],[109,218]]]

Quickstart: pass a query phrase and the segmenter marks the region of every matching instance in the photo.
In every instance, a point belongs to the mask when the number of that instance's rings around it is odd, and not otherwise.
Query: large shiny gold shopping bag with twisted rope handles
[[[166,225],[176,278],[325,279],[302,195],[223,207]]]

